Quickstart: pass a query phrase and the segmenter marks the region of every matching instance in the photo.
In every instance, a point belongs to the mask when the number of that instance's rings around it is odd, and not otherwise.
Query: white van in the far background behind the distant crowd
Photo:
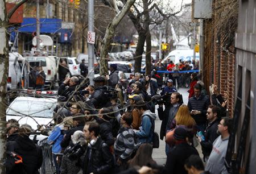
[[[174,51],[171,51],[168,56],[166,56],[162,63],[164,63],[164,60],[170,59],[174,64],[179,63],[180,59],[183,61],[189,61],[193,60],[193,49],[175,49]],[[199,60],[199,53],[196,53],[196,61]]]

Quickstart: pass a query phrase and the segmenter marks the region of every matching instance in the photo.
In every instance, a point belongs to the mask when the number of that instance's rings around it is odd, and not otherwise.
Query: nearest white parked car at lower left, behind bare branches
[[[56,105],[55,97],[16,97],[6,110],[6,121],[16,119],[20,125],[28,124],[36,130],[38,124],[49,125],[52,122],[53,109]]]

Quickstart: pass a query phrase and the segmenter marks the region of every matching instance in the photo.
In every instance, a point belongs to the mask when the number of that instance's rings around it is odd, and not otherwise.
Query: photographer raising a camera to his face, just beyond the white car
[[[77,77],[67,77],[63,84],[60,85],[59,90],[58,90],[58,95],[59,96],[64,96],[64,97],[69,97],[70,94],[72,94],[72,92],[74,90],[76,90],[76,87],[78,85],[79,82],[79,78]]]

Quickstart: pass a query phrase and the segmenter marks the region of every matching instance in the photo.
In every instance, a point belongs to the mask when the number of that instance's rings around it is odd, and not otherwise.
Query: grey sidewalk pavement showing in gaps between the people
[[[183,102],[185,105],[188,104],[188,92],[187,92],[187,88],[179,88],[178,92],[182,94],[183,96]],[[156,121],[155,121],[155,131],[158,132],[158,134],[160,134],[160,127],[161,127],[161,123],[162,121],[160,121],[159,117],[158,117],[158,105],[156,105]],[[166,164],[166,143],[164,142],[164,140],[159,140],[159,148],[154,148],[153,149],[153,154],[152,154],[152,158],[156,161],[156,163],[158,163],[159,165],[163,165]],[[201,158],[203,158],[203,154],[201,151],[201,146],[199,144],[199,146],[196,147],[197,151],[199,152],[199,155]]]

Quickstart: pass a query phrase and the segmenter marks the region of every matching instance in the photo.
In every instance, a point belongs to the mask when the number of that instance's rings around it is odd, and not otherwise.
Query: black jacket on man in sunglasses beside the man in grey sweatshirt
[[[214,120],[212,123],[210,123],[207,126],[207,129],[205,130],[204,137],[205,140],[201,141],[201,147],[204,155],[209,156],[210,152],[212,152],[212,143],[216,138],[218,138],[217,130],[218,130],[218,123],[220,123],[220,119]]]

